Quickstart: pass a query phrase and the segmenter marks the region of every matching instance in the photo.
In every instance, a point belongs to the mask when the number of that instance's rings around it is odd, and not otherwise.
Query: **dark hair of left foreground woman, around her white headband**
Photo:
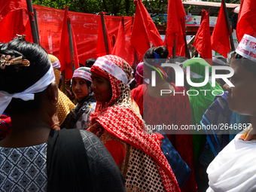
[[[21,93],[35,84],[50,69],[51,63],[46,50],[38,44],[21,41],[14,38],[0,50],[0,56],[10,55],[11,59],[23,56],[28,59],[29,66],[5,66],[0,69],[0,90],[12,93]],[[36,108],[40,105],[43,93],[35,93],[35,99],[23,101],[22,99],[12,99],[6,111],[24,112],[29,108]],[[10,109],[10,110],[8,110]],[[8,112],[7,112],[8,113]]]

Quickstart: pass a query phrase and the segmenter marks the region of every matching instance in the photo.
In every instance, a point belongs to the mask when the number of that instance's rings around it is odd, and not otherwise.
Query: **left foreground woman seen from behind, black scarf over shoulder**
[[[58,89],[47,52],[16,38],[0,50],[0,66],[0,114],[5,111],[12,126],[0,142],[0,190],[125,191],[96,136],[51,130]]]

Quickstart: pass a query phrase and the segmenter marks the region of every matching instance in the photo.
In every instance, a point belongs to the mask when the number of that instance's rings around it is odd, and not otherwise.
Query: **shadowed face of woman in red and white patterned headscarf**
[[[110,81],[102,76],[92,72],[92,87],[97,102],[109,102],[112,97],[112,88]]]

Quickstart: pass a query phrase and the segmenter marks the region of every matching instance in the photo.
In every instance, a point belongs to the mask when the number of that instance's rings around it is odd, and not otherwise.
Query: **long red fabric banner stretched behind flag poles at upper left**
[[[54,56],[59,58],[59,46],[62,33],[62,20],[64,17],[64,10],[46,8],[39,5],[33,5],[33,7],[37,10],[38,29],[41,46],[44,47],[44,49],[47,50],[48,53],[53,54]],[[69,17],[72,21],[79,62],[84,65],[87,59],[97,58],[96,45],[100,16],[96,14],[84,14],[69,11]],[[108,35],[110,37],[111,44],[113,44],[112,36],[115,35],[117,37],[118,26],[121,18],[122,17],[105,15],[105,26],[108,29]],[[133,17],[124,17],[124,33],[126,38],[127,50],[129,48],[132,24]],[[23,25],[26,27],[26,32],[23,32],[23,34],[26,35],[26,41],[32,42],[29,16],[28,14],[26,14],[25,11],[23,11]],[[14,36],[16,34],[22,35],[22,32],[17,32],[15,30],[11,32],[11,28],[7,28],[6,24],[4,26],[2,25],[2,23],[0,23],[0,27],[1,29],[8,30],[9,34],[14,34]],[[0,42],[11,41],[14,36],[10,35],[10,37],[8,38],[5,35],[0,35]]]

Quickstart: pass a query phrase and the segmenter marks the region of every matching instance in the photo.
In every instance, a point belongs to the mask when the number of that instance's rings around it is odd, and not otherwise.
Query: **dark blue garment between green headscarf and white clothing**
[[[202,126],[210,127],[205,129],[206,139],[213,154],[217,154],[242,130],[230,129],[238,123],[250,123],[249,116],[237,114],[228,108],[227,93],[215,97],[215,101],[203,114]],[[217,129],[216,129],[217,128]]]

